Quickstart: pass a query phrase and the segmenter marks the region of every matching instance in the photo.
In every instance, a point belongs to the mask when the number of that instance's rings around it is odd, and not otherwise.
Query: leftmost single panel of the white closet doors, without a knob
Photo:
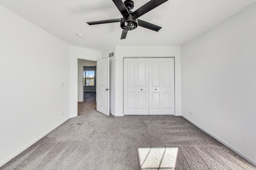
[[[136,114],[136,59],[124,58],[124,115]]]

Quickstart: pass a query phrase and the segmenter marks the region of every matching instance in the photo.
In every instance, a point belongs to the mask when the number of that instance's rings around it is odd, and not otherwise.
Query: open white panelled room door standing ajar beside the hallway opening
[[[96,108],[97,111],[109,115],[109,59],[97,61],[96,74]]]

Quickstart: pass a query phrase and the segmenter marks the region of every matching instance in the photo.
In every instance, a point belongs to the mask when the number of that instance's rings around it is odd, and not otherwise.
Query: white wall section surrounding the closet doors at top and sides
[[[116,106],[115,115],[124,115],[124,57],[175,57],[175,115],[181,115],[181,68],[180,68],[180,46],[159,46],[159,47],[116,47]]]

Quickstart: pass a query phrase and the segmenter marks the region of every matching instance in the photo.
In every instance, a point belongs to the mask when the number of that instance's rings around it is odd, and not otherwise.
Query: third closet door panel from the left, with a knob
[[[150,58],[148,60],[149,72],[149,114],[162,114],[162,97],[161,97],[161,59]]]

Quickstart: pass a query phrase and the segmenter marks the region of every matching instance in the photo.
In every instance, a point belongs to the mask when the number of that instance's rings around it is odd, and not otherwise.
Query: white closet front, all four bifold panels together
[[[174,58],[124,58],[124,115],[174,115]]]

